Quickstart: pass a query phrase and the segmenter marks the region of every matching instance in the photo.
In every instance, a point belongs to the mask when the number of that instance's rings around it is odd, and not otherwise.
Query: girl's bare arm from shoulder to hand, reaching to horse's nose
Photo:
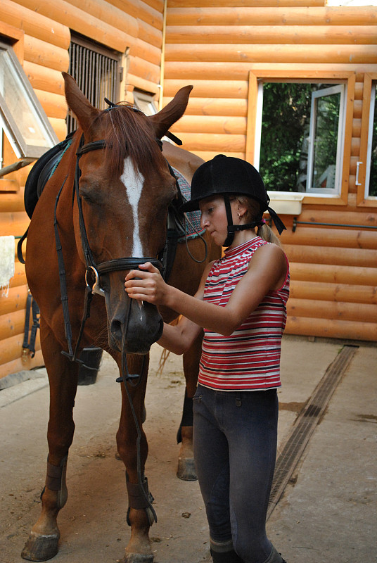
[[[275,244],[258,248],[250,260],[248,272],[238,282],[225,307],[202,301],[203,297],[191,297],[165,284],[160,272],[150,262],[141,268],[143,271],[127,274],[124,285],[129,297],[165,305],[199,327],[227,336],[248,318],[269,291],[283,286],[287,262],[283,251]],[[141,279],[134,279],[136,276]]]

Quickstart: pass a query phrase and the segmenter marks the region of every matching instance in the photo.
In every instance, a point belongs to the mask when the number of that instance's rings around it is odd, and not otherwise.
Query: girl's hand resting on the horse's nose
[[[160,271],[151,262],[131,270],[124,283],[128,296],[138,301],[148,301],[153,305],[165,305],[169,286],[162,279]]]

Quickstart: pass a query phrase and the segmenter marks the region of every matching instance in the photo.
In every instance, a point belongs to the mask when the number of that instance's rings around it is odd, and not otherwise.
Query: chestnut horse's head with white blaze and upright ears
[[[159,140],[183,115],[192,87],[182,88],[164,109],[147,117],[124,104],[98,110],[70,75],[63,77],[68,106],[80,125],[77,135],[84,134],[75,203],[77,248],[88,265],[79,225],[81,203],[91,255],[102,272],[109,345],[146,353],[160,338],[162,318],[154,305],[127,296],[124,276],[137,265],[124,258],[156,258],[165,245],[167,208],[177,197],[177,187]],[[101,270],[103,262],[110,262],[110,267]]]

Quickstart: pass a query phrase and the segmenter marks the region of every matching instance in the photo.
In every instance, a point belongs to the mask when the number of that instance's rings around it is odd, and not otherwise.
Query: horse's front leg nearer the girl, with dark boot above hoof
[[[135,386],[129,384],[129,396],[122,387],[122,412],[119,429],[117,431],[117,451],[126,467],[126,484],[129,501],[127,524],[131,526],[131,538],[126,548],[123,563],[151,563],[153,553],[149,528],[153,522],[151,509],[146,498],[149,498],[148,483],[144,476],[144,466],[148,455],[148,443],[142,428],[144,397],[146,393],[146,380],[148,376],[149,356],[127,356],[128,371],[130,374],[141,374],[141,379]],[[139,448],[137,442],[137,429],[130,404],[137,418],[140,431]],[[138,451],[139,450],[139,451]],[[138,471],[139,456],[139,471]],[[139,483],[142,483],[142,487]]]

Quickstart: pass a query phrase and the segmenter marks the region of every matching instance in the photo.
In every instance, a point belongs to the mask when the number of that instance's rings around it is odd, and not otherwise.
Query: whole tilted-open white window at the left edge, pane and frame
[[[16,158],[39,158],[58,143],[27,76],[10,45],[0,42],[1,166],[5,137]]]

